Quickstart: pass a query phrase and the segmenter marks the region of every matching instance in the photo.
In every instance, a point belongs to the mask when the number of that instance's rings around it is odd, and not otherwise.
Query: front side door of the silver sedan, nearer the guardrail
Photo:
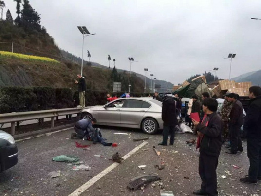
[[[97,111],[99,124],[103,125],[119,125],[120,114],[124,99],[116,99],[115,101],[106,104],[101,110]]]

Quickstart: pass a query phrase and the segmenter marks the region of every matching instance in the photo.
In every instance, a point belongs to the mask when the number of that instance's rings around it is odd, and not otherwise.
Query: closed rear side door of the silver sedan
[[[151,104],[146,101],[127,99],[121,109],[121,124],[125,126],[139,125]]]

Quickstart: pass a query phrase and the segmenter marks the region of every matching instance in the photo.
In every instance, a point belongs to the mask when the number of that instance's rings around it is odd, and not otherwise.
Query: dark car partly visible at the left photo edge
[[[13,167],[18,162],[18,148],[14,138],[0,130],[0,172]]]

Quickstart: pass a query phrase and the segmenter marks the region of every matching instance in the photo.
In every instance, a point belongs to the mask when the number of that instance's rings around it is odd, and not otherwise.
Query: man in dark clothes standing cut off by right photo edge
[[[244,131],[246,131],[247,156],[250,167],[248,175],[241,178],[244,183],[256,184],[261,180],[261,88],[249,88],[250,106],[247,109]]]

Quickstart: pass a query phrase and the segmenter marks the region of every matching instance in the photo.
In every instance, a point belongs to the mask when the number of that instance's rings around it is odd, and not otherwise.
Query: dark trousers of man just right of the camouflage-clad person
[[[229,137],[232,152],[243,150],[242,141],[240,138],[240,128],[240,125],[229,125]]]

